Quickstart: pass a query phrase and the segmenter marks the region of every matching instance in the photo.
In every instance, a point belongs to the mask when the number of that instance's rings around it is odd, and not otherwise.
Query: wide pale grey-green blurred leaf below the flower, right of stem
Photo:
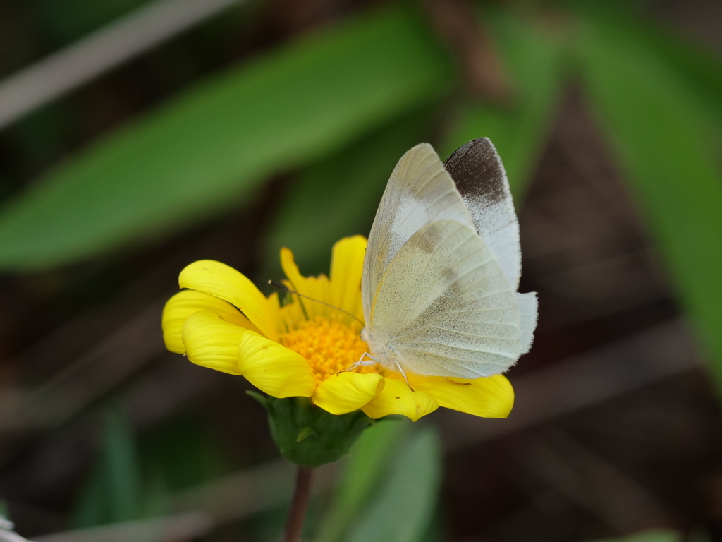
[[[441,478],[435,431],[425,428],[401,449],[383,486],[347,542],[417,542],[432,520]]]

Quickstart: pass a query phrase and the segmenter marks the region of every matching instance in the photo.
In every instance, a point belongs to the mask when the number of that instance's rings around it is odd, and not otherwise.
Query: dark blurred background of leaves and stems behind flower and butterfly
[[[539,328],[508,420],[419,422],[419,540],[722,540],[721,56],[712,0],[0,0],[4,513],[274,540],[292,473],[247,383],[165,351],[178,272],[326,272],[406,149],[488,136]]]

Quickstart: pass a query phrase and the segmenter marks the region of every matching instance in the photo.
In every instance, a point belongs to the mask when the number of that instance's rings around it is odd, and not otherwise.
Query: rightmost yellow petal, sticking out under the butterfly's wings
[[[409,374],[409,382],[444,408],[482,418],[506,418],[514,406],[513,387],[503,374],[473,380]]]

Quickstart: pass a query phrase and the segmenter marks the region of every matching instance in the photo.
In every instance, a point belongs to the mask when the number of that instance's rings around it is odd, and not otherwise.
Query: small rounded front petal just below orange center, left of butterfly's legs
[[[383,384],[383,377],[377,373],[334,374],[318,384],[313,403],[331,414],[346,414],[374,399],[383,390]]]

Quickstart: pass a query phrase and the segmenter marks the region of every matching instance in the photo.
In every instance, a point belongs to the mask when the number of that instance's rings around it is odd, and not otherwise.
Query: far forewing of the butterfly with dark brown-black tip
[[[444,163],[471,213],[479,235],[513,288],[521,276],[519,223],[504,165],[486,137],[455,150]]]

